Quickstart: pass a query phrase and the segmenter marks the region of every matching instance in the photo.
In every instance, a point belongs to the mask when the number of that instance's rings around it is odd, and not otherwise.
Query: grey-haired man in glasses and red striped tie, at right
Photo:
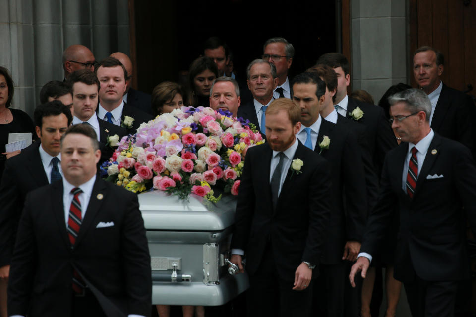
[[[454,316],[458,281],[469,276],[465,215],[476,228],[475,162],[468,148],[430,128],[424,92],[409,89],[389,102],[402,143],[385,158],[379,201],[350,281],[359,270],[365,277],[398,206],[394,275],[404,283],[412,316]]]

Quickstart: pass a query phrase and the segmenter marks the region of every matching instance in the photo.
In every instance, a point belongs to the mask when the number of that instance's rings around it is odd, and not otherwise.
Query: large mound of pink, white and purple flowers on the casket
[[[112,144],[117,149],[101,174],[134,193],[162,190],[181,199],[192,193],[217,202],[214,188],[238,195],[246,151],[263,142],[253,124],[228,111],[181,107]]]

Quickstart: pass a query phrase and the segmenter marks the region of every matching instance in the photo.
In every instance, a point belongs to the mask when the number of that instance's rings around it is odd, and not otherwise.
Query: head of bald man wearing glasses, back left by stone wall
[[[68,78],[69,74],[79,69],[94,71],[95,62],[93,52],[84,45],[73,44],[68,46],[63,52],[64,78]]]

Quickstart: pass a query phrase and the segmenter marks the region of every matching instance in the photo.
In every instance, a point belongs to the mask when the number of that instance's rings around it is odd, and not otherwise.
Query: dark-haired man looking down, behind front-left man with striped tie
[[[7,278],[18,219],[26,194],[61,178],[60,138],[72,121],[60,101],[37,106],[34,113],[40,141],[7,159],[0,185],[0,278]]]

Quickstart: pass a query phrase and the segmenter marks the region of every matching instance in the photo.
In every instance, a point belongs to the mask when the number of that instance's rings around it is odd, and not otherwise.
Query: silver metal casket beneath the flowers
[[[245,291],[248,276],[228,273],[236,198],[218,203],[162,191],[138,195],[149,242],[152,304],[223,305]]]

